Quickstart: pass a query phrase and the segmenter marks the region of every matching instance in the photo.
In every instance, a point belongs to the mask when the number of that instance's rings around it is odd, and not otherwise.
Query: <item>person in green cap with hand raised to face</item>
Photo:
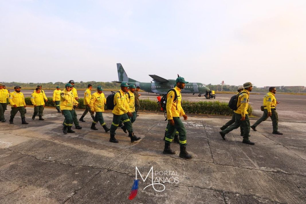
[[[64,123],[63,123],[63,133],[75,133],[75,131],[71,130],[72,123],[73,123],[73,101],[74,96],[71,92],[72,85],[67,83],[65,85],[65,89],[61,92],[61,99],[60,99],[60,109],[62,111],[62,114],[64,115]]]

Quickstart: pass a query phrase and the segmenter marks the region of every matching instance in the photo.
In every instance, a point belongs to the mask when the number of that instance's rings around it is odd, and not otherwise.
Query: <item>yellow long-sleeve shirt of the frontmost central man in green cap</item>
[[[173,117],[181,117],[181,115],[185,115],[185,112],[181,105],[181,101],[182,101],[181,89],[177,87],[174,87],[173,89],[175,90],[177,94],[177,99],[174,101],[174,96],[175,96],[174,91],[170,91],[167,94],[166,109],[167,109],[167,119],[168,120],[173,119]]]

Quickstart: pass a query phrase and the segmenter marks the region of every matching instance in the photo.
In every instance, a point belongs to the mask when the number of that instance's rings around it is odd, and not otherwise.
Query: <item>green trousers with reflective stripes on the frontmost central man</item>
[[[166,127],[167,133],[166,133],[166,143],[171,143],[176,130],[178,131],[179,141],[181,146],[187,145],[187,137],[186,137],[186,129],[184,127],[184,124],[181,121],[180,117],[173,117],[174,120],[174,126],[170,125],[170,122],[168,120],[168,124]]]

